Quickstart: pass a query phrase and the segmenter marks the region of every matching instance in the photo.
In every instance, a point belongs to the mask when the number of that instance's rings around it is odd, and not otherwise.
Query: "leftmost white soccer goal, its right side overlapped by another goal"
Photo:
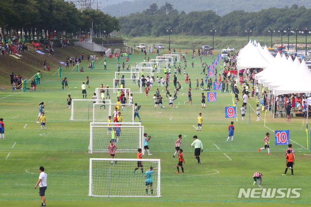
[[[70,120],[75,121],[92,121],[93,120],[93,104],[103,103],[98,99],[72,99]],[[111,104],[111,100],[105,100],[106,104]]]

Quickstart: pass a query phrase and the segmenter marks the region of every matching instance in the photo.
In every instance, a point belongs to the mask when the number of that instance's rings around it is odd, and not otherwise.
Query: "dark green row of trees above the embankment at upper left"
[[[57,35],[77,35],[94,31],[119,31],[119,19],[98,10],[86,9],[83,13],[72,2],[64,0],[1,0],[0,28],[2,35],[17,35],[24,30],[25,36],[43,36],[56,31]]]

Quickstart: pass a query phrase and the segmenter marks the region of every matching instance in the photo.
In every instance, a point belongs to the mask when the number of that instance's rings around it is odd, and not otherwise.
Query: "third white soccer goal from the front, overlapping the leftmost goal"
[[[113,112],[115,111],[116,107],[116,104],[93,104],[93,122],[107,121],[109,116],[112,117],[113,121]],[[123,109],[119,110],[122,115],[122,121],[134,121],[134,104],[120,104],[120,107]]]

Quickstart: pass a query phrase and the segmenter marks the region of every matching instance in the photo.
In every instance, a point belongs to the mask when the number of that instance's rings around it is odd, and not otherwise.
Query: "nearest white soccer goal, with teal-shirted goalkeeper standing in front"
[[[107,145],[108,146],[108,145]],[[118,156],[118,149],[116,151]],[[115,164],[117,161],[117,164]],[[143,173],[138,167],[142,162]],[[111,164],[113,163],[113,164]],[[146,195],[145,173],[152,167],[153,194],[148,186]],[[161,197],[160,159],[89,159],[89,190],[91,197]]]

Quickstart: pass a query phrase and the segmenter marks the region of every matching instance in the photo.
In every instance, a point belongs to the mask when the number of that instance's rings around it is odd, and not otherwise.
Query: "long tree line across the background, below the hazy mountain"
[[[168,35],[186,33],[189,35],[211,35],[214,28],[216,35],[247,35],[250,29],[253,35],[269,35],[269,30],[311,30],[311,9],[296,4],[290,8],[269,8],[259,12],[233,11],[224,17],[213,11],[197,11],[186,14],[178,12],[173,5],[166,3],[158,8],[156,3],[141,13],[120,17],[121,33],[130,36]],[[280,34],[279,34],[280,35]],[[283,34],[284,35],[284,34]],[[292,35],[292,34],[291,34]]]

